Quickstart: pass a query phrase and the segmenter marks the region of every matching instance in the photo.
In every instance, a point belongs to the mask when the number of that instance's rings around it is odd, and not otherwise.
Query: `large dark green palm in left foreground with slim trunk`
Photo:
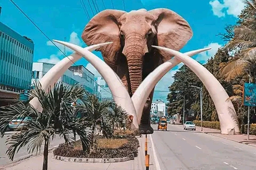
[[[11,160],[15,152],[21,147],[28,145],[29,153],[40,152],[41,145],[44,142],[43,152],[43,170],[48,168],[48,146],[51,138],[55,135],[63,136],[65,142],[70,143],[74,137],[70,135],[71,131],[78,134],[82,143],[89,147],[90,133],[86,131],[84,124],[77,118],[74,112],[73,102],[83,98],[86,92],[79,85],[64,86],[62,82],[54,85],[49,93],[42,90],[39,82],[35,83],[34,89],[28,90],[25,95],[31,100],[38,98],[42,106],[42,112],[33,108],[28,102],[19,101],[18,103],[2,107],[0,112],[0,133],[1,137],[8,127],[9,122],[17,118],[30,117],[24,126],[18,128],[18,132],[11,135],[6,144],[10,145],[6,153]]]

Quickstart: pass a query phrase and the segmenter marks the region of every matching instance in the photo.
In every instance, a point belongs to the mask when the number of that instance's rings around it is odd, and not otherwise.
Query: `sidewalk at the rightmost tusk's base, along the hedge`
[[[196,127],[197,131],[201,132],[201,127]],[[203,133],[211,134],[214,136],[222,137],[225,139],[233,140],[239,143],[249,144],[256,147],[256,136],[250,135],[249,141],[247,140],[246,134],[236,134],[236,135],[228,135],[228,134],[220,134],[220,130],[218,129],[211,129],[211,128],[203,128]]]

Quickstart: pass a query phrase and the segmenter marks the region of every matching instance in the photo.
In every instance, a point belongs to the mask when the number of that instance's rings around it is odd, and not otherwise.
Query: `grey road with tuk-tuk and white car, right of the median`
[[[256,147],[183,130],[182,125],[168,125],[168,131],[153,128],[161,170],[256,170]]]

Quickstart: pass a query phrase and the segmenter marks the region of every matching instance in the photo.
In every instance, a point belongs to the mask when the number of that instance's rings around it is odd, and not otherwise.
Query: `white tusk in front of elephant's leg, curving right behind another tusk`
[[[203,49],[197,49],[193,51],[186,52],[185,54],[188,56],[196,55],[200,52],[209,50],[211,48],[203,48]],[[173,57],[172,59],[162,63],[157,68],[155,68],[139,85],[135,93],[132,95],[132,101],[133,105],[135,107],[138,122],[140,122],[142,112],[144,105],[146,103],[146,100],[150,94],[150,92],[153,90],[153,88],[156,86],[158,81],[173,67],[181,63],[181,61]]]

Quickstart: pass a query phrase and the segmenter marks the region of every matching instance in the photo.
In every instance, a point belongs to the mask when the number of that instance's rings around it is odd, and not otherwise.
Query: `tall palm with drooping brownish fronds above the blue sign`
[[[227,81],[248,74],[256,63],[256,0],[247,0],[246,3],[248,7],[240,15],[240,25],[234,27],[234,37],[225,46],[230,51],[239,51],[221,69]]]

